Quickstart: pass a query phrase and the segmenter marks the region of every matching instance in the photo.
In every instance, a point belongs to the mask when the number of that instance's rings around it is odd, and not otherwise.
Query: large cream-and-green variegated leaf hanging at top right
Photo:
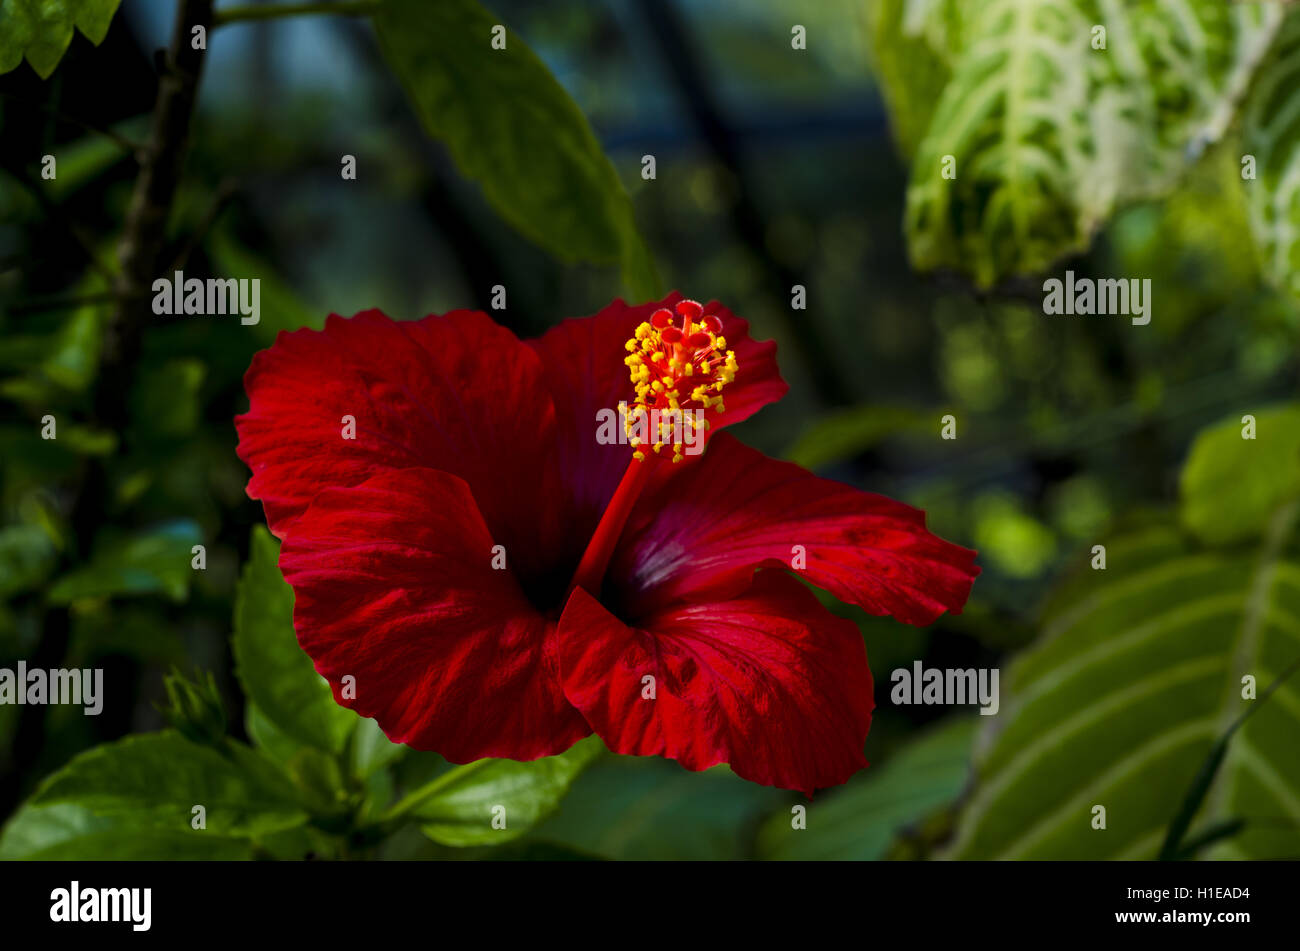
[[[989,287],[1086,249],[1222,136],[1280,21],[1222,0],[972,5],[913,165],[914,264]]]

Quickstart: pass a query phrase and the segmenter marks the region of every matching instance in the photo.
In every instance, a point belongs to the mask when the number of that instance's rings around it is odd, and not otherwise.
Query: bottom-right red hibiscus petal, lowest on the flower
[[[867,765],[862,635],[780,572],[760,572],[740,598],[677,604],[636,628],[577,589],[559,644],[566,695],[614,752],[688,769],[729,763],[746,780],[809,794]]]

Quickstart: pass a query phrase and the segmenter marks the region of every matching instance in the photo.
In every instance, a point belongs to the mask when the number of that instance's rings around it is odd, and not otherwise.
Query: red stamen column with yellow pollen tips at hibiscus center
[[[632,460],[610,504],[588,542],[568,592],[581,587],[601,596],[604,569],[641,490],[650,481],[651,464],[645,446],[655,453],[672,447],[672,461],[685,459],[686,443],[702,447],[708,420],[705,411],[724,412],[723,387],[736,379],[736,353],[720,336],[722,320],[705,313],[694,300],[677,303],[676,316],[659,308],[627,342],[627,364],[636,388],[624,427],[633,447]],[[567,598],[567,595],[566,595]]]

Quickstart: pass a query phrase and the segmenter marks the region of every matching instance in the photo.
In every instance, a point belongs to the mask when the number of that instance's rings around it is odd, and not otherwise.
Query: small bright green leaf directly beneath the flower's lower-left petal
[[[569,785],[604,750],[595,737],[530,763],[477,760],[456,767],[412,798],[420,829],[445,846],[491,846],[519,838],[549,816]],[[400,811],[402,803],[395,808]],[[504,812],[502,813],[500,809]],[[493,828],[503,818],[504,829]]]

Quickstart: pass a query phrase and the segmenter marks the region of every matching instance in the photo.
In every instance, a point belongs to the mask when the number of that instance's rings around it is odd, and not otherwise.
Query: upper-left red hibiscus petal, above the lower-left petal
[[[322,488],[407,466],[465,479],[520,560],[559,533],[541,361],[484,313],[333,314],[324,331],[281,334],[254,357],[244,387],[238,452],[252,469],[248,495],[280,538]],[[356,420],[355,439],[343,438],[344,416]],[[521,469],[528,478],[515,478]]]

